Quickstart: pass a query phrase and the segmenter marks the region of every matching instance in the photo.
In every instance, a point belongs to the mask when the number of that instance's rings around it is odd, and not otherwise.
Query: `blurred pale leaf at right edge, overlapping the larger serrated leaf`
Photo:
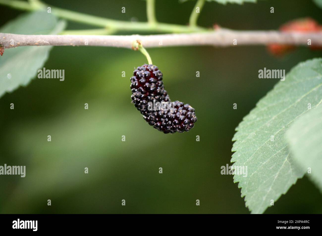
[[[322,105],[298,118],[286,137],[294,160],[322,192]]]

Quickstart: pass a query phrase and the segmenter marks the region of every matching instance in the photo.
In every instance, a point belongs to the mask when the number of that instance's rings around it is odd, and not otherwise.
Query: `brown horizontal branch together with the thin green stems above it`
[[[48,5],[40,0],[0,0],[4,4],[16,9],[38,11],[47,9]],[[18,35],[0,33],[0,47],[14,48],[19,46],[105,46],[132,48],[134,41],[140,41],[145,48],[168,47],[168,46],[235,46],[237,45],[266,45],[270,43],[288,45],[322,45],[322,33],[299,33],[279,31],[234,31],[219,28],[216,30],[197,26],[196,22],[204,5],[204,0],[198,0],[190,16],[190,25],[176,25],[160,23],[155,17],[155,0],[147,0],[148,22],[126,22],[103,17],[92,16],[84,13],[73,12],[51,6],[52,14],[84,24],[103,27],[92,30],[65,31],[64,35]],[[196,11],[196,8],[199,11]],[[88,35],[109,34],[116,31],[132,30],[145,32],[171,32],[172,34],[161,35]],[[67,34],[68,35],[65,35]],[[71,35],[70,35],[71,34]]]

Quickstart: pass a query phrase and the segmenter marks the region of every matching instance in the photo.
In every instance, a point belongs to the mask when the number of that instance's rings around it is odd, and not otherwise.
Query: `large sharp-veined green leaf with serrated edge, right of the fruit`
[[[236,128],[232,166],[247,166],[247,177],[234,175],[252,213],[263,213],[303,177],[305,170],[292,158],[286,130],[293,121],[321,103],[322,59],[295,66]],[[273,141],[271,141],[273,140]]]

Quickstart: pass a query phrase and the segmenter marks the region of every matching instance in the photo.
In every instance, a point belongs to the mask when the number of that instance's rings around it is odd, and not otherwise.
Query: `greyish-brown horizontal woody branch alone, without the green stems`
[[[159,35],[20,35],[0,33],[0,45],[4,48],[21,46],[102,46],[132,48],[133,41],[139,40],[145,48],[169,46],[236,46],[267,45],[270,43],[322,46],[322,32],[298,33],[279,31],[215,31],[159,34]]]

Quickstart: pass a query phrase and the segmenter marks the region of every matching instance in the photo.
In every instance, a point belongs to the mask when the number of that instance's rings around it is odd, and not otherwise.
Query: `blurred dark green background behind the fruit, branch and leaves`
[[[45,2],[102,17],[146,21],[145,2],[140,0]],[[157,0],[157,19],[186,24],[194,4]],[[22,13],[0,7],[0,25]],[[198,23],[270,30],[307,16],[322,23],[321,13],[309,0],[242,6],[207,2]],[[74,22],[67,27],[87,28],[91,27]],[[133,33],[140,32],[122,32]],[[235,127],[277,83],[258,79],[258,70],[288,72],[301,61],[321,57],[322,52],[302,47],[282,58],[271,56],[264,46],[148,52],[164,74],[170,98],[196,109],[195,127],[188,133],[165,135],[150,127],[131,104],[129,78],[134,67],[146,63],[141,53],[54,47],[44,67],[64,69],[64,82],[36,78],[0,99],[0,165],[26,166],[25,178],[0,176],[0,213],[249,213],[232,176],[221,175],[220,167],[230,164]],[[0,63],[3,60],[5,54]],[[14,110],[9,109],[10,103]],[[89,104],[88,110],[84,103]],[[232,109],[233,103],[237,110]],[[47,135],[52,136],[51,142]],[[126,142],[121,142],[122,135]],[[84,174],[85,167],[89,174]],[[159,167],[163,174],[158,173]],[[52,200],[51,206],[47,199]],[[121,205],[122,199],[126,206]],[[196,199],[200,206],[195,205]],[[322,213],[320,202],[319,191],[304,177],[265,213]]]

